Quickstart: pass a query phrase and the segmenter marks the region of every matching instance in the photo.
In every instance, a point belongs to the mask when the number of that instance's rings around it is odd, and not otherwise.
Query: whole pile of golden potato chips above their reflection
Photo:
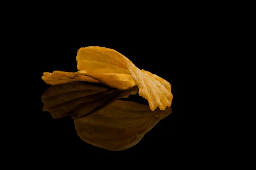
[[[80,48],[76,60],[79,71],[44,72],[42,79],[50,85],[86,81],[103,83],[119,90],[137,85],[139,95],[148,100],[151,111],[157,107],[163,111],[172,104],[169,82],[149,71],[140,70],[131,60],[113,49],[98,46]]]

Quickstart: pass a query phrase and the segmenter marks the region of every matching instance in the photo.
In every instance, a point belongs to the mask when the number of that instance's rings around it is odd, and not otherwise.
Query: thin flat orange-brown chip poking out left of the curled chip
[[[81,73],[69,73],[65,71],[53,71],[53,73],[44,72],[42,76],[44,82],[50,85],[58,85],[66,82],[73,81],[86,81],[86,82],[98,82],[98,80],[82,75]]]

